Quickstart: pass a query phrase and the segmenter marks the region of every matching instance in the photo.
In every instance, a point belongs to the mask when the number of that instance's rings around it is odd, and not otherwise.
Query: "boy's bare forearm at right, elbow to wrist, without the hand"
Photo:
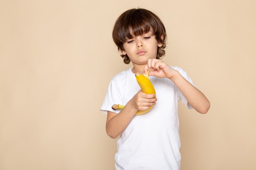
[[[201,91],[182,77],[178,71],[175,71],[175,74],[170,79],[196,111],[202,114],[207,113],[210,108],[210,102]]]

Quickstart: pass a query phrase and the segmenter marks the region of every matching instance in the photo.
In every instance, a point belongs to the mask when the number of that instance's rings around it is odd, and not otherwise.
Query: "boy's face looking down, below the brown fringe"
[[[123,55],[127,54],[133,64],[144,65],[147,64],[148,59],[156,58],[157,47],[162,44],[157,42],[150,30],[148,33],[128,39],[123,46],[124,51],[121,51]]]

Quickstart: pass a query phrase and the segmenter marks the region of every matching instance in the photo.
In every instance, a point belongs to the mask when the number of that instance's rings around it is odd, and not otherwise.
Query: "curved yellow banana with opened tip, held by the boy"
[[[143,75],[137,73],[137,74],[135,74],[135,77],[136,77],[137,83],[139,84],[141,91],[143,93],[155,94],[155,88],[148,78],[148,73],[149,73],[149,71]],[[150,106],[147,110],[138,110],[137,113],[135,113],[135,115],[144,115],[145,113],[148,113],[148,111],[151,110],[152,107],[153,106]],[[124,108],[124,106],[122,106],[120,104],[114,104],[112,106],[113,110],[123,109],[123,108]]]

